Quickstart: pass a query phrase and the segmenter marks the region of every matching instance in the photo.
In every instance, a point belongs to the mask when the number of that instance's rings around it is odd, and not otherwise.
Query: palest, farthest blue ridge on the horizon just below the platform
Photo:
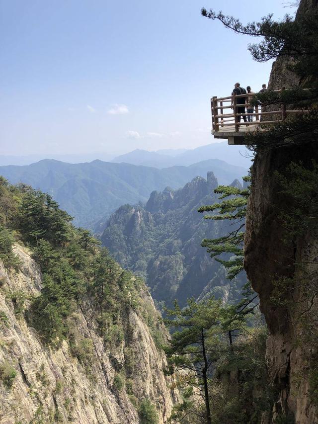
[[[166,168],[175,165],[188,166],[208,159],[219,159],[231,165],[249,168],[251,163],[250,158],[246,158],[248,154],[249,152],[246,153],[244,146],[228,146],[225,141],[200,146],[193,150],[182,151],[180,149],[179,152],[172,149],[159,150],[157,152],[136,149],[125,155],[117,156],[112,162]]]

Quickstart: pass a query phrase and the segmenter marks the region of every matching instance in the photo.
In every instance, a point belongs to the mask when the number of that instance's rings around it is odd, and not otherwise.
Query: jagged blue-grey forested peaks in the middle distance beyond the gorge
[[[233,184],[240,186],[238,180]],[[213,172],[195,177],[183,188],[154,191],[145,206],[121,206],[109,219],[101,240],[122,266],[146,278],[154,299],[184,304],[212,293],[228,300],[239,297],[240,281],[226,279],[223,265],[200,244],[229,232],[227,221],[206,221],[198,207],[217,202]]]

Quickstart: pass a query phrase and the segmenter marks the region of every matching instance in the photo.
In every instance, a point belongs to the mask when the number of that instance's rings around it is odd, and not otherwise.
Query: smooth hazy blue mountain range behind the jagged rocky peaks
[[[76,225],[94,228],[120,205],[147,201],[153,190],[178,188],[196,175],[213,170],[220,181],[229,183],[246,170],[223,161],[205,161],[190,167],[157,168],[93,161],[68,164],[43,160],[28,166],[0,167],[11,183],[23,182],[51,194],[75,217]]]

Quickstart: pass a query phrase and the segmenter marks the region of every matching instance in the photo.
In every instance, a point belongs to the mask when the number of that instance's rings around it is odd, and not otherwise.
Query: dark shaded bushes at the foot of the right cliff
[[[210,382],[212,423],[259,423],[274,404],[265,362],[267,331],[250,328],[215,362]]]

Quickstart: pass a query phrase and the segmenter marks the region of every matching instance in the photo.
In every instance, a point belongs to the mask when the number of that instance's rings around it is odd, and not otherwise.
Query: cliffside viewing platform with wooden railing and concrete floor
[[[284,90],[285,87],[282,87],[279,90],[274,90],[274,92]],[[271,106],[274,110],[265,110],[265,107],[261,105],[253,107],[249,103],[253,97],[254,93],[212,97],[212,135],[215,138],[227,139],[229,145],[244,146],[246,144],[244,141],[246,134],[255,130],[264,131],[265,127],[268,128],[268,126],[284,121],[288,115],[308,113],[307,110],[287,110],[284,103],[266,106],[266,109]],[[242,101],[239,100],[240,98],[244,99],[244,103],[240,103]],[[238,113],[238,108],[244,108],[244,113]],[[253,112],[247,113],[246,108],[253,109]],[[230,113],[227,113],[226,109],[230,109]],[[243,116],[246,117],[246,120],[252,117],[253,121],[246,123],[243,121]],[[269,119],[264,119],[267,116]]]

